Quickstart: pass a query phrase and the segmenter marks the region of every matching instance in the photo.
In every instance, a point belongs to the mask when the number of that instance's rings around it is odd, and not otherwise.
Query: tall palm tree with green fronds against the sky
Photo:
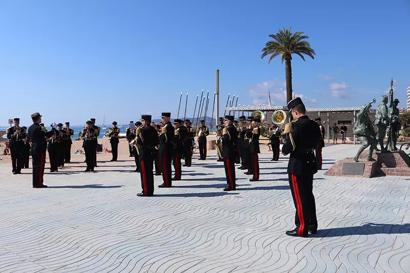
[[[299,55],[303,60],[305,60],[303,54],[315,59],[315,51],[311,48],[311,44],[305,40],[309,39],[309,36],[303,34],[304,32],[301,31],[291,33],[290,28],[280,29],[278,33],[269,35],[273,40],[268,41],[262,49],[261,58],[270,55],[269,64],[274,57],[279,55],[282,56],[282,64],[285,60],[286,103],[292,100],[292,54]]]

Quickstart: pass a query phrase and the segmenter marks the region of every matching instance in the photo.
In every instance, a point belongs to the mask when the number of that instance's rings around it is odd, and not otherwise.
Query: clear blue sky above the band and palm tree
[[[389,88],[400,107],[410,86],[409,1],[0,1],[0,125],[128,123],[163,111],[179,94],[210,90],[220,70],[220,111],[283,105],[284,64],[261,59],[271,33],[304,31],[315,60],[292,61],[294,92],[308,107],[360,106]],[[185,99],[185,95],[184,95]],[[210,111],[209,111],[210,112]],[[223,112],[223,111],[222,111]]]

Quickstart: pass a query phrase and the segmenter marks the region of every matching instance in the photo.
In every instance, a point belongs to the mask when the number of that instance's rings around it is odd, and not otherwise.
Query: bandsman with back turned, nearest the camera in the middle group
[[[137,144],[140,147],[139,160],[141,164],[142,192],[137,196],[151,196],[154,194],[154,174],[152,171],[155,157],[155,147],[158,145],[158,132],[150,125],[151,115],[142,115],[142,128],[137,129]]]

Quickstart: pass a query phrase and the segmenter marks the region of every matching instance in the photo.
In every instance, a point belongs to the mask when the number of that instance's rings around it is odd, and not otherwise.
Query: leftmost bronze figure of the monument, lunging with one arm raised
[[[355,127],[353,128],[353,134],[357,135],[362,145],[360,146],[359,151],[357,151],[357,154],[353,158],[355,162],[359,161],[360,154],[368,146],[370,146],[370,149],[367,153],[367,161],[375,161],[372,155],[373,150],[376,148],[377,145],[376,133],[373,128],[372,121],[368,116],[368,111],[372,107],[372,103],[375,102],[376,99],[374,98],[371,102],[362,106],[359,113],[357,113]]]

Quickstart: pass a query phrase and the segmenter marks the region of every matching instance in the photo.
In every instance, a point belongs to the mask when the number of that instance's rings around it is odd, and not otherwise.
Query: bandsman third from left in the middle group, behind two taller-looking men
[[[184,152],[183,140],[187,138],[187,129],[185,126],[181,126],[182,120],[174,120],[174,153],[172,156],[172,162],[174,165],[175,176],[172,180],[181,180],[182,170],[181,170],[181,157]]]

